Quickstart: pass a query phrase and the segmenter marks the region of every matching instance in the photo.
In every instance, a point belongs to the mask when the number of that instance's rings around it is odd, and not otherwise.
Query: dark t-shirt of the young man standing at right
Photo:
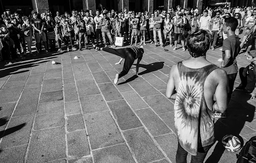
[[[229,59],[229,63],[227,67],[220,67],[222,70],[225,70],[227,75],[234,74],[238,72],[238,66],[236,64],[236,56],[240,51],[240,41],[237,35],[231,35],[223,40],[222,44],[222,59],[225,57],[225,51],[231,51],[231,57]]]

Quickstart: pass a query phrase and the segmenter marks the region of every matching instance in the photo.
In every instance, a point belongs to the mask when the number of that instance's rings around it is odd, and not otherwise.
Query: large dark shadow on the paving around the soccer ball
[[[212,149],[209,151],[208,154],[210,156],[205,163],[218,163],[221,160],[222,154],[225,152],[225,148],[222,145],[222,138],[227,134],[232,134],[238,137],[241,141],[241,146],[243,146],[244,140],[239,134],[244,128],[245,123],[252,122],[254,119],[255,106],[249,104],[253,102],[250,100],[250,97],[251,95],[244,91],[234,90],[227,108],[228,117],[218,119],[214,125],[215,143],[216,141],[218,141],[218,143],[215,145],[211,154],[210,151]],[[241,134],[243,135],[244,133]],[[247,140],[245,140],[245,142],[246,141]],[[230,153],[231,155],[234,155],[234,158],[228,156],[230,161],[236,160],[235,154],[238,152],[234,152],[233,154]]]

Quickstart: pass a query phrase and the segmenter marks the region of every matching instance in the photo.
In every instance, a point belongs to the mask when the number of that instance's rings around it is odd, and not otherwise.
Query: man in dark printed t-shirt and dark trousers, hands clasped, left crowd
[[[42,21],[42,19],[37,18],[38,13],[36,11],[33,10],[31,14],[33,15],[33,18],[31,19],[31,24],[34,27],[34,37],[36,40],[37,55],[39,55],[39,49],[40,49],[39,46],[41,41],[43,41],[45,52],[49,53],[47,51],[47,46],[46,46],[46,35],[45,35],[45,32],[43,31],[45,23]]]

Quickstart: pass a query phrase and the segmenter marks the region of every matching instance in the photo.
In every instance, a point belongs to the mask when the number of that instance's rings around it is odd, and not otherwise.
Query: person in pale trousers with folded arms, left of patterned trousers
[[[157,43],[157,34],[159,37],[159,42],[161,47],[164,47],[163,39],[162,39],[162,31],[161,31],[161,23],[163,21],[162,16],[158,15],[157,10],[154,11],[155,17],[153,18],[153,23],[154,23],[154,29],[153,29],[153,35],[154,35],[154,40],[155,40],[155,47],[158,45]]]

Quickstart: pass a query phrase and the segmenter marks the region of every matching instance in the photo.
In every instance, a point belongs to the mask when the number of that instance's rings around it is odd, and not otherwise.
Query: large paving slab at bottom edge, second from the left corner
[[[32,132],[27,163],[49,162],[65,157],[65,128],[51,128]]]

